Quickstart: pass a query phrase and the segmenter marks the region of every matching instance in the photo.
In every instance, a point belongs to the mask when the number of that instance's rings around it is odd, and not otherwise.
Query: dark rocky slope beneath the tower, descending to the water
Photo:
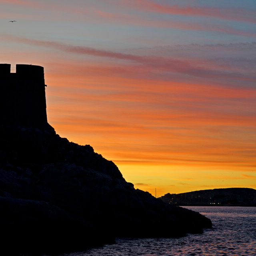
[[[134,189],[117,166],[54,130],[0,126],[2,250],[54,253],[115,237],[202,233],[211,221]]]

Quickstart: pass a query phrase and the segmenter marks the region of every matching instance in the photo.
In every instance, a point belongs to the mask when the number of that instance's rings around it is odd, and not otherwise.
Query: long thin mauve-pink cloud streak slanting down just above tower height
[[[7,41],[15,41],[24,44],[31,44],[36,46],[44,46],[47,48],[54,48],[56,50],[71,52],[76,54],[85,54],[98,56],[103,58],[112,58],[116,60],[128,61],[130,63],[137,63],[152,70],[162,70],[162,72],[178,72],[190,76],[200,76],[205,78],[232,78],[240,80],[255,81],[254,76],[244,76],[239,72],[225,72],[225,70],[216,70],[214,66],[206,67],[205,60],[179,60],[174,58],[164,58],[160,56],[139,56],[134,54],[118,53],[106,50],[98,50],[86,46],[72,46],[69,44],[34,40],[22,37],[15,37],[9,35],[2,35],[1,38]]]

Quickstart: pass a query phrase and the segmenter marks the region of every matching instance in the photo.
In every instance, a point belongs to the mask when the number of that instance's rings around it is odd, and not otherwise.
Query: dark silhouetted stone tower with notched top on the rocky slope
[[[0,64],[0,124],[47,129],[44,68]]]

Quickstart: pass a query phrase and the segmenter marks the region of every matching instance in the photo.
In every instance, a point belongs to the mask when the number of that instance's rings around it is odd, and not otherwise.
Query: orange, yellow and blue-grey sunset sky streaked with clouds
[[[135,188],[256,189],[255,0],[0,0],[0,63]]]

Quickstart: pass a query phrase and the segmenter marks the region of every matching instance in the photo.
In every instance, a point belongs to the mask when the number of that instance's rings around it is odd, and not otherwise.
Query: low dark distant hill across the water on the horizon
[[[165,194],[162,201],[179,206],[256,206],[253,188],[216,188],[180,194]]]

